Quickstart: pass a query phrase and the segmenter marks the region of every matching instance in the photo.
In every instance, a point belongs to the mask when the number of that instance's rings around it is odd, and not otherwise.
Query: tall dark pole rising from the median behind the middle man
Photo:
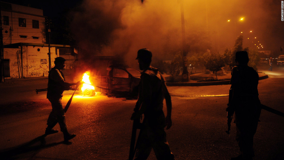
[[[183,10],[183,0],[181,2],[181,33],[182,33],[182,58],[183,58],[183,73],[182,81],[188,82],[188,71],[187,71],[187,49],[185,44],[185,24],[184,24],[184,10]]]

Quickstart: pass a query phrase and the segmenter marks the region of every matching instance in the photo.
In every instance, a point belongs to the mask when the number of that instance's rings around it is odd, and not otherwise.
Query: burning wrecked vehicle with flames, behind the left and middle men
[[[84,96],[93,96],[98,92],[131,97],[138,95],[141,76],[138,70],[113,66],[111,60],[106,57],[103,57],[103,59],[99,57],[98,59],[99,62],[94,62],[93,66],[80,68],[82,71],[88,70],[84,71],[84,74],[77,73],[78,76],[73,77],[73,81],[82,79],[85,82],[81,88]]]

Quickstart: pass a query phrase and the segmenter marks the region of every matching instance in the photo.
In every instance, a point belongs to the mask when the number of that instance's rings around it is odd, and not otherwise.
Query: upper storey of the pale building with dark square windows
[[[46,43],[43,10],[1,2],[3,44]]]

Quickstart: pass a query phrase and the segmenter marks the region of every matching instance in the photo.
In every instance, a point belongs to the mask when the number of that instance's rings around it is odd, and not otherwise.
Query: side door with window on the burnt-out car
[[[122,68],[113,68],[109,75],[110,92],[130,92],[131,79]]]

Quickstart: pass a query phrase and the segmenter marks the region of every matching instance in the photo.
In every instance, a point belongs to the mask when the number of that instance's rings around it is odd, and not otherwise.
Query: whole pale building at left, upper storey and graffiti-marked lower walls
[[[23,78],[48,76],[49,47],[45,38],[43,10],[1,3],[3,33],[3,77]],[[69,45],[50,45],[51,67],[54,59],[66,59],[65,72],[70,74],[77,51]],[[1,68],[1,67],[0,67]]]

